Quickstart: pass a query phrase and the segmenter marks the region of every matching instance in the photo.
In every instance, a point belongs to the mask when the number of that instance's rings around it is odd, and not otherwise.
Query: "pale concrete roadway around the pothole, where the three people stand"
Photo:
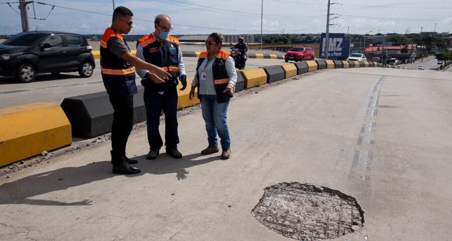
[[[110,142],[79,142],[0,176],[0,239],[290,240],[251,210],[300,182],[357,199],[364,226],[341,240],[450,240],[451,95],[444,72],[322,70],[235,97],[226,161],[200,155],[199,108],[178,119],[182,159],[146,160],[146,128],[132,132],[138,175],[111,174]]]

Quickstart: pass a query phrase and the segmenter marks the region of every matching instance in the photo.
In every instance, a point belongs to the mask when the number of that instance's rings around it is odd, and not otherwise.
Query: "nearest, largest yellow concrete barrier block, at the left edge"
[[[0,166],[72,143],[59,104],[37,102],[0,109]]]

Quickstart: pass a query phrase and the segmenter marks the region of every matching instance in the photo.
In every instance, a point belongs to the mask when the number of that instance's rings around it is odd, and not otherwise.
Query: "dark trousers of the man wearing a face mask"
[[[145,87],[144,102],[148,128],[148,142],[151,150],[159,150],[163,146],[159,132],[160,114],[165,114],[165,146],[174,148],[179,144],[177,135],[177,89],[176,85],[169,87],[163,94],[150,87]]]

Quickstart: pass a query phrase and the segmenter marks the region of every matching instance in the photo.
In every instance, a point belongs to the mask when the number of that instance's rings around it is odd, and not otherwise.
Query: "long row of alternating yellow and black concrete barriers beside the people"
[[[94,53],[95,54],[95,53]],[[135,51],[134,53],[135,54]],[[184,52],[185,56],[199,57],[200,52]],[[255,54],[256,55],[256,54]],[[256,58],[264,58],[257,54]],[[265,58],[275,58],[269,55]],[[349,68],[350,66],[381,67],[373,61],[309,60],[261,68],[237,71],[235,91],[273,83],[296,75],[322,68]],[[391,68],[402,68],[391,66]],[[178,89],[178,109],[199,103],[197,93],[189,99],[192,79],[187,79],[187,88]],[[134,123],[146,120],[143,100],[144,87],[138,86],[134,95]],[[61,106],[38,102],[28,105],[0,109],[0,166],[71,144],[72,136],[92,138],[111,131],[113,109],[105,91],[65,98]],[[25,128],[24,128],[25,127]],[[50,137],[50,138],[49,138]]]

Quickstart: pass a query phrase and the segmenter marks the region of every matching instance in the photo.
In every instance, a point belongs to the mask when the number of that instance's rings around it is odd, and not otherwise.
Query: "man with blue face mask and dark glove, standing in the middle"
[[[150,151],[147,159],[156,159],[163,146],[159,132],[160,113],[165,114],[165,146],[166,154],[173,158],[182,158],[177,150],[179,137],[177,134],[177,83],[179,78],[184,90],[187,87],[187,75],[179,48],[179,40],[169,36],[171,19],[164,14],[154,20],[155,31],[137,42],[137,57],[157,65],[171,74],[169,80],[155,78],[146,69],[137,68],[144,86],[144,102],[148,129]]]

